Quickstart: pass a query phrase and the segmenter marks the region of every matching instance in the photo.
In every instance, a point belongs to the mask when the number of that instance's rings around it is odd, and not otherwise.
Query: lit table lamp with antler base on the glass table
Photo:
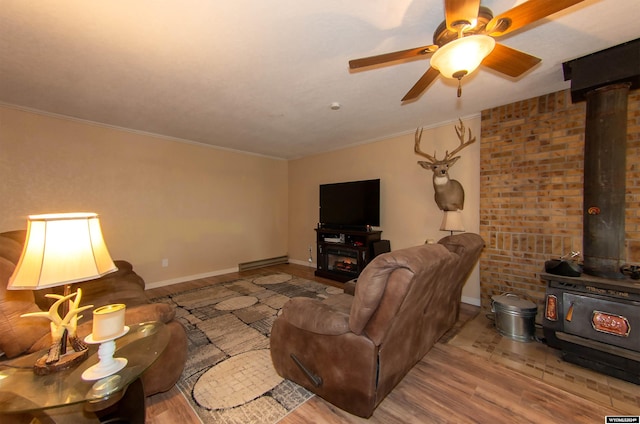
[[[67,369],[84,360],[86,344],[77,337],[81,289],[70,292],[70,285],[101,277],[117,268],[102,237],[100,220],[95,213],[31,215],[27,220],[27,237],[18,265],[9,278],[9,290],[38,290],[64,286],[64,295],[47,294],[56,299],[48,312],[39,316],[51,320],[52,344],[49,353],[36,361],[36,374]],[[62,313],[58,311],[62,306]],[[73,352],[67,352],[67,340]]]

